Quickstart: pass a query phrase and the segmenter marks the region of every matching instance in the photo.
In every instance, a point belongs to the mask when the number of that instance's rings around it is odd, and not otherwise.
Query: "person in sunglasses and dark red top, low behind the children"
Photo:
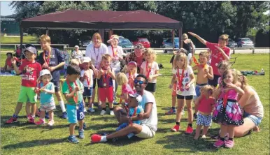
[[[134,47],[134,52],[127,54],[126,57],[126,65],[129,64],[130,61],[135,61],[137,63],[137,72],[140,73],[140,66],[145,61],[144,56],[144,47],[143,44],[137,43]]]

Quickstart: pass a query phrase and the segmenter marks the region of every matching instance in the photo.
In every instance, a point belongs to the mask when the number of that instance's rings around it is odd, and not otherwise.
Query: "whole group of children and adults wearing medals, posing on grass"
[[[217,139],[214,146],[232,148],[234,137],[246,135],[250,130],[260,131],[258,126],[264,113],[262,103],[246,77],[231,68],[230,50],[226,47],[229,40],[227,35],[220,36],[218,43],[209,43],[197,34],[189,34],[209,50],[199,53],[198,63],[194,60],[192,40],[188,39],[187,34],[183,34],[183,48],[173,52],[172,77],[169,83],[169,89],[172,89],[172,106],[165,113],[176,115],[176,124],[171,131],[180,131],[181,114],[186,104],[188,124],[185,134],[193,133],[192,124],[197,119],[194,140],[200,135],[201,138],[206,138],[213,121],[220,124],[220,133],[213,136]],[[38,62],[35,61],[34,47],[24,50],[26,59],[19,68],[15,59],[8,56],[8,68],[22,74],[22,84],[15,112],[6,124],[17,121],[22,104],[26,103],[29,123],[46,124],[45,118],[48,118],[48,125],[53,126],[55,94],[62,110],[62,118],[69,121],[68,141],[78,143],[75,126],[79,124],[79,138],[85,138],[83,119],[85,112],[95,112],[93,103],[97,86],[100,115],[106,115],[108,102],[109,115],[116,117],[118,128],[108,135],[92,135],[92,142],[106,142],[126,135],[128,138],[134,135],[138,138],[154,137],[157,132],[155,91],[157,78],[160,78],[159,66],[155,61],[157,56],[154,50],[145,49],[138,43],[134,52],[127,55],[125,67],[121,68],[124,58],[118,40],[117,35],[112,35],[107,41],[110,44],[107,47],[102,43],[100,34],[95,33],[92,43],[87,45],[85,56],[76,46],[64,79],[60,76],[60,70],[65,64],[64,57],[58,49],[50,47],[50,37],[47,35],[40,37],[43,52],[39,55]],[[196,70],[197,77],[194,75]],[[121,88],[120,95],[116,93],[118,87]],[[39,108],[36,108],[37,98],[40,99]],[[120,98],[120,105],[114,106],[118,104],[117,98]],[[35,121],[36,115],[40,117],[38,121]]]

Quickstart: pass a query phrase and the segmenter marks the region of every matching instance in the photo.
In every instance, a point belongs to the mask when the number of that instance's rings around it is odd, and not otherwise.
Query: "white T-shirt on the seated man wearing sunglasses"
[[[145,111],[145,104],[152,103],[152,110],[150,117],[148,119],[141,120],[141,124],[145,124],[153,131],[157,131],[157,104],[155,102],[155,97],[149,91],[143,91],[142,101],[140,103],[141,107]]]

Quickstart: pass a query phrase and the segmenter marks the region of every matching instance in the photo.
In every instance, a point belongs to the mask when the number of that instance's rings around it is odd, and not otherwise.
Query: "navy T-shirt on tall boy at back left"
[[[44,51],[39,54],[39,63],[41,64],[41,66],[45,63],[44,59],[43,59],[43,53]],[[48,59],[48,52],[45,52],[45,59]],[[64,55],[56,48],[52,48],[51,52],[50,52],[50,62],[49,62],[49,66],[57,66],[58,64],[64,62]],[[44,68],[43,68],[44,69]],[[57,68],[55,71],[52,71],[52,80],[57,81],[60,79],[60,71],[62,68]]]

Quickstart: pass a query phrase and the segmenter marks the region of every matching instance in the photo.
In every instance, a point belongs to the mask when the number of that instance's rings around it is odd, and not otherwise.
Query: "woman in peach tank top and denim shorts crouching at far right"
[[[239,97],[239,104],[244,111],[244,123],[234,128],[234,137],[243,137],[252,129],[253,131],[260,131],[258,125],[261,123],[262,117],[264,117],[264,108],[255,89],[248,85],[246,77],[239,71],[237,71],[237,74],[241,81],[241,89],[245,91],[245,94]]]

